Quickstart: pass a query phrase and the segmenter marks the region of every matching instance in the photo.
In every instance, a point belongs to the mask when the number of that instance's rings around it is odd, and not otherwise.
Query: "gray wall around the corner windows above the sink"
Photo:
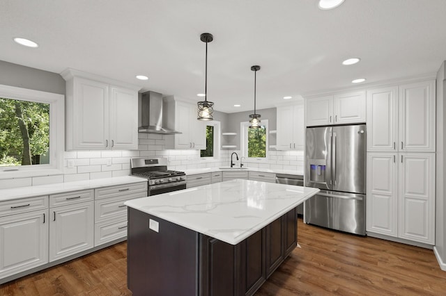
[[[247,122],[249,121],[249,114],[254,113],[254,110],[252,111],[246,111],[246,112],[238,112],[238,113],[230,113],[228,114],[228,120],[227,120],[227,129],[222,128],[223,133],[237,133],[237,135],[226,135],[222,138],[226,138],[227,144],[223,145],[236,145],[237,148],[234,150],[240,149],[240,122]],[[277,120],[277,110],[276,108],[268,108],[268,109],[261,109],[256,110],[257,114],[261,115],[261,120],[268,120],[268,128],[270,131],[276,129],[276,120]],[[272,136],[269,137],[269,145],[275,145],[276,140],[275,137],[273,139]]]

